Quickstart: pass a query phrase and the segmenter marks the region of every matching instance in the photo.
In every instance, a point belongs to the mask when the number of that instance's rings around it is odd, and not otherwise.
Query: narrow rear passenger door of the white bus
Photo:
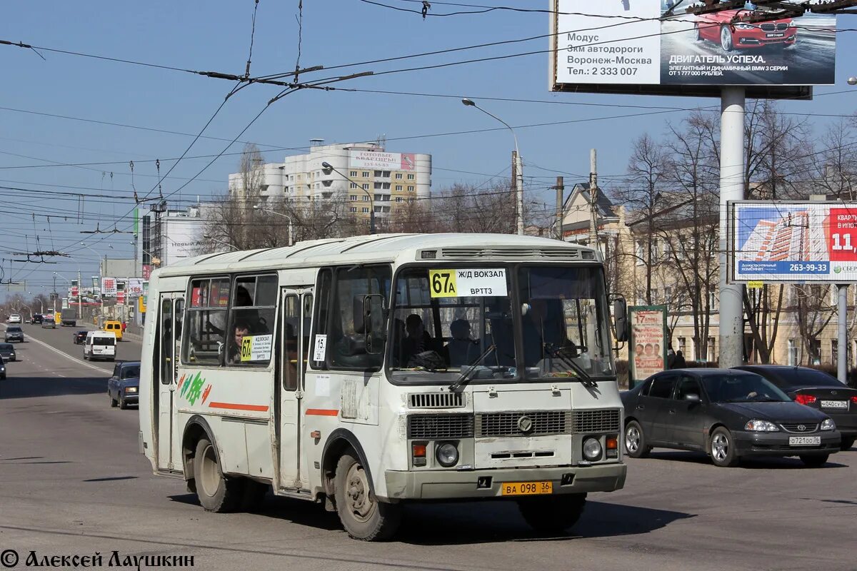
[[[158,469],[181,471],[178,454],[176,387],[178,345],[182,338],[184,294],[161,294],[158,315]]]

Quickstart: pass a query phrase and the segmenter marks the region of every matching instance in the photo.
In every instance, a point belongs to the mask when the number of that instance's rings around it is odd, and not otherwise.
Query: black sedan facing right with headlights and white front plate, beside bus
[[[622,394],[629,456],[653,447],[700,450],[716,466],[742,456],[799,456],[823,466],[841,435],[826,414],[792,401],[759,375],[723,369],[675,369]]]

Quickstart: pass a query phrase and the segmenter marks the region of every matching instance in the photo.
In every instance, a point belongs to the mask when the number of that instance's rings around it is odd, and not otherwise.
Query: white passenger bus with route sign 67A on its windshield
[[[148,308],[141,452],[209,511],[273,486],[383,539],[404,503],[496,498],[558,531],[625,483],[589,248],[369,235],[214,253],[153,272]]]

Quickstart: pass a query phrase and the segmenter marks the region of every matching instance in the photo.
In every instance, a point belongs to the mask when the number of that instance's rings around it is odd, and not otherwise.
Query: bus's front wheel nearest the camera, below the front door
[[[351,538],[383,541],[399,529],[402,507],[375,498],[369,476],[353,450],[339,457],[333,486],[339,520]]]

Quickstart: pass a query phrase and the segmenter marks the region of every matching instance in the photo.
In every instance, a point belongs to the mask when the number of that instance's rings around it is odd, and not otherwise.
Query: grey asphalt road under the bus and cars
[[[80,360],[70,329],[25,334],[0,381],[0,551],[16,550],[17,568],[31,550],[99,552],[105,565],[113,550],[194,556],[202,569],[857,568],[857,450],[821,469],[796,459],[725,469],[668,451],[629,459],[626,489],[590,495],[558,538],[537,537],[503,503],[413,507],[386,544],[354,541],[333,514],[279,497],[259,514],[207,514],[138,454],[136,411],[106,396],[112,364]],[[122,342],[118,358],[139,351]]]

